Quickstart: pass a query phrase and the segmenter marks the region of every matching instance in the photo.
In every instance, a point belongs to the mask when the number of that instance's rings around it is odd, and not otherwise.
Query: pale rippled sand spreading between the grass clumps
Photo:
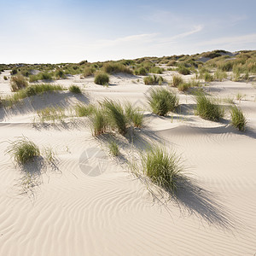
[[[9,84],[0,76],[0,93]],[[167,78],[170,73],[166,73]],[[137,82],[139,79],[139,82]],[[133,82],[131,81],[133,80]],[[142,77],[115,75],[106,88],[93,79],[60,80],[79,84],[83,96],[69,92],[26,100],[12,111],[0,110],[0,255],[253,255],[256,253],[256,90],[246,83],[214,82],[208,88],[218,97],[243,97],[247,131],[223,122],[202,120],[193,113],[192,96],[180,93],[180,114],[160,118],[150,113]],[[106,145],[91,136],[84,122],[36,127],[36,110],[59,104],[96,102],[108,97],[145,108],[146,127],[136,132],[134,149],[122,138],[124,158],[131,160],[146,141],[165,143],[182,154],[191,183],[177,191],[177,201],[153,202],[142,181],[125,161],[108,156],[92,159],[102,175],[86,175],[79,166],[90,148]],[[68,123],[68,121],[67,121]],[[57,169],[38,167],[37,185],[22,191],[23,172],[4,151],[8,140],[24,135],[40,148],[55,149]],[[89,159],[89,158],[88,158]]]

